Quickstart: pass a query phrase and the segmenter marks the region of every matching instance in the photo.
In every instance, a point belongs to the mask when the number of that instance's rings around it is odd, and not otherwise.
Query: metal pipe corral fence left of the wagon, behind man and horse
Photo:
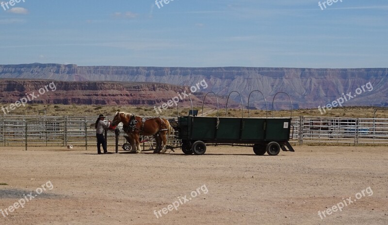
[[[173,117],[164,117],[173,119]],[[106,119],[113,118],[106,117]],[[81,116],[17,116],[4,115],[0,118],[0,142],[3,146],[96,146],[97,117]],[[119,145],[126,143],[124,132],[120,132]],[[114,131],[107,132],[108,146],[115,144]],[[146,137],[152,139],[152,137]],[[27,141],[26,141],[27,140]],[[151,148],[155,141],[143,144]],[[168,140],[169,145],[177,145],[175,131]]]

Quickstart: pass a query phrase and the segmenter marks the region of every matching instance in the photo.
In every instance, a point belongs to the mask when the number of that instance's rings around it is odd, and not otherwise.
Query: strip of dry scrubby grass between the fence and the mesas
[[[2,105],[6,106],[6,105]],[[325,116],[325,117],[356,117],[356,118],[372,118],[373,109],[375,107],[340,107],[334,108],[325,114],[321,114],[317,109],[298,109],[292,111],[292,116]],[[198,110],[198,115],[201,115],[201,107],[194,107],[194,110]],[[96,116],[103,113],[107,116],[113,115],[117,111],[125,111],[135,113],[137,115],[146,116],[177,116],[177,109],[171,108],[163,110],[160,114],[157,114],[153,106],[108,106],[108,105],[42,105],[42,104],[29,104],[26,107],[20,107],[16,110],[8,113],[14,115],[46,115],[48,116]],[[188,108],[180,109],[180,115],[187,115]],[[204,109],[204,114],[209,116],[216,116],[215,109]],[[225,108],[219,110],[219,116],[225,116]],[[265,111],[262,110],[250,110],[251,117],[265,117]],[[289,110],[274,111],[274,116],[288,117],[291,113]],[[228,116],[240,117],[241,109],[229,109]],[[272,116],[271,111],[268,112],[268,116]],[[244,110],[244,117],[248,117],[248,110]],[[388,109],[379,108],[376,112],[376,118],[387,118]]]

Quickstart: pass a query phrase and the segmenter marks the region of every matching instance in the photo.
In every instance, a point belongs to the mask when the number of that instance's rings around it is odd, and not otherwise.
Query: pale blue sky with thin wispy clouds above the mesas
[[[387,0],[318,2],[21,0],[0,8],[0,64],[388,67]]]

